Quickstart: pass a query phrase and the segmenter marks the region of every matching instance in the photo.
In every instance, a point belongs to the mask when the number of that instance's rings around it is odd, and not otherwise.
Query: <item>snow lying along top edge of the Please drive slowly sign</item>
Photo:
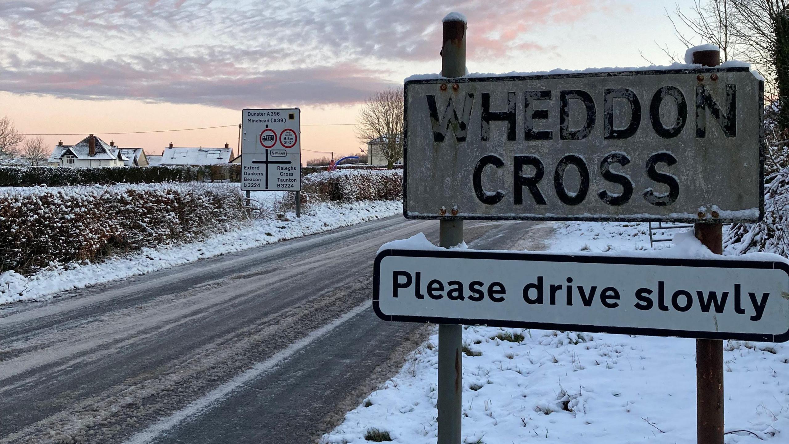
[[[453,249],[462,249],[467,251],[484,251],[473,250],[462,243]],[[408,239],[394,240],[384,243],[379,249],[378,253],[383,250],[445,250],[442,247],[436,246],[431,243],[428,238],[422,233],[413,235]],[[543,254],[540,251],[504,251],[506,253],[518,254]],[[600,253],[591,253],[578,250],[563,251],[561,247],[551,250],[551,253],[557,254],[570,254],[572,256],[600,256]],[[720,260],[740,260],[740,261],[772,261],[784,262],[789,264],[789,259],[780,256],[779,254],[772,253],[748,253],[739,256],[722,256],[714,254],[705,245],[701,243],[694,235],[693,230],[682,231],[674,235],[674,240],[671,242],[671,248],[662,250],[610,250],[603,254],[604,256],[619,256],[625,258],[671,258],[671,259],[720,259]]]

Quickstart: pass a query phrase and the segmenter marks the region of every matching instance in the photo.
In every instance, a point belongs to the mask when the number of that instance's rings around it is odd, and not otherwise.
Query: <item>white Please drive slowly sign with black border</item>
[[[458,250],[383,250],[386,321],[784,342],[789,265]]]

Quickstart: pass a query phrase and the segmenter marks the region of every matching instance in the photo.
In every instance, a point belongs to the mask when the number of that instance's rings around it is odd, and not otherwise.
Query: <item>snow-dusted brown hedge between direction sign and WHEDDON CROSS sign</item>
[[[328,201],[402,199],[402,170],[344,169],[306,175],[302,189]]]

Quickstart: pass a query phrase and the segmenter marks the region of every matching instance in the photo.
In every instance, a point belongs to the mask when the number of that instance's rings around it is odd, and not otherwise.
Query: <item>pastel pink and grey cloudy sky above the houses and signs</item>
[[[691,0],[679,0],[688,7]],[[245,107],[301,107],[303,157],[357,153],[370,92],[440,69],[441,18],[469,18],[468,69],[667,64],[675,0],[2,0],[0,116],[70,145],[106,134],[232,126]],[[237,145],[237,127],[100,135],[159,153]],[[312,151],[308,151],[312,150]]]

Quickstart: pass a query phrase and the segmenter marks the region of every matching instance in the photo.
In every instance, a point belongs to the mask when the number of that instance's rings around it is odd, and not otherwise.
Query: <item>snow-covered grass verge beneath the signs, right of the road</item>
[[[648,224],[568,222],[555,231],[550,252],[711,254],[690,231],[659,233],[681,241],[649,251]],[[402,242],[390,246],[429,248]],[[694,340],[468,326],[463,343],[463,442],[696,442]],[[436,442],[437,344],[434,335],[417,348],[321,442],[368,442],[373,430],[393,442]],[[724,346],[727,444],[786,442],[789,348]]]

